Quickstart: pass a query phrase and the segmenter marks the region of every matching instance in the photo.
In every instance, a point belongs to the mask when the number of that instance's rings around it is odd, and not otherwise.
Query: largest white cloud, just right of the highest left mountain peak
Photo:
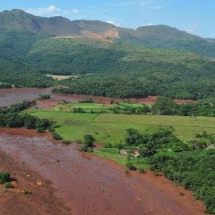
[[[55,5],[50,5],[46,8],[29,8],[25,11],[36,16],[69,16],[80,13],[80,11],[75,8],[72,10],[62,10]]]

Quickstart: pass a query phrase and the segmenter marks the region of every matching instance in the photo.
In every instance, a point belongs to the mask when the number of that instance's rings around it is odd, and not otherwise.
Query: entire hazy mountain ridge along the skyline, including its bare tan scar
[[[103,41],[119,41],[136,47],[176,49],[215,58],[214,39],[201,38],[166,25],[128,29],[101,21],[70,21],[59,16],[38,17],[14,9],[0,13],[0,26],[0,29],[8,31],[27,31],[57,38],[88,37]]]

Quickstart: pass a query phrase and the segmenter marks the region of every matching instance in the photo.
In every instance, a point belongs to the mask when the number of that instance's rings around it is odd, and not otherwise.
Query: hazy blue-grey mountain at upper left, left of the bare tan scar
[[[0,26],[7,30],[23,30],[52,36],[81,36],[82,31],[105,33],[115,26],[100,21],[70,21],[64,17],[38,17],[14,9],[0,13]]]

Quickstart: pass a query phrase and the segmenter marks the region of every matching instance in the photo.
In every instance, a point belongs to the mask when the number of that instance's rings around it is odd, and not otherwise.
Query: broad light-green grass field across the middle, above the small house
[[[150,132],[156,131],[159,127],[172,126],[174,134],[183,141],[203,131],[215,134],[215,118],[212,117],[90,114],[43,110],[28,112],[40,118],[56,121],[61,125],[56,129],[57,132],[65,140],[70,141],[83,140],[85,134],[92,134],[97,142],[120,143],[124,141],[128,128]]]

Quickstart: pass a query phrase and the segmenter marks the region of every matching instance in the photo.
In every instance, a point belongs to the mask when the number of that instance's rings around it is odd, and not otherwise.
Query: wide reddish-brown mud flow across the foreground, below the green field
[[[164,177],[156,177],[151,172],[126,175],[125,169],[114,162],[82,154],[75,147],[75,144],[53,143],[50,137],[38,135],[35,131],[0,129],[0,151],[17,165],[16,169],[10,169],[11,174],[16,173],[17,178],[22,175],[19,167],[24,163],[27,169],[51,181],[55,192],[50,197],[55,195],[56,202],[61,202],[61,199],[65,203],[59,204],[58,210],[65,210],[59,214],[68,214],[67,208],[74,215],[204,214],[204,207],[193,200],[191,192],[175,187]],[[0,167],[7,168],[4,163]],[[28,198],[34,195],[33,192]],[[31,201],[28,198],[23,205]],[[48,206],[54,207],[53,204]],[[11,207],[18,206],[11,204]],[[31,214],[49,213],[45,210],[34,213],[32,210]]]

